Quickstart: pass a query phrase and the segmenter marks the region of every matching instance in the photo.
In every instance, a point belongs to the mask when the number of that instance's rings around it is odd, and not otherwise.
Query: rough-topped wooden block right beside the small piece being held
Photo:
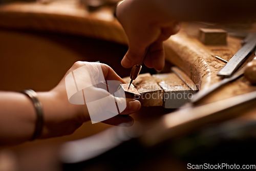
[[[125,77],[123,80],[130,83],[131,79],[130,77]],[[141,96],[135,96],[135,99],[139,100],[142,106],[163,105],[163,90],[150,73],[140,74],[133,81],[133,84],[141,94]]]

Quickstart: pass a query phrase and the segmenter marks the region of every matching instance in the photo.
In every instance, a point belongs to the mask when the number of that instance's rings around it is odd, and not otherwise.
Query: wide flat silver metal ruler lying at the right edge
[[[226,63],[226,65],[218,72],[220,77],[230,77],[234,71],[238,69],[246,56],[256,46],[256,33],[249,33],[246,38],[244,46]]]

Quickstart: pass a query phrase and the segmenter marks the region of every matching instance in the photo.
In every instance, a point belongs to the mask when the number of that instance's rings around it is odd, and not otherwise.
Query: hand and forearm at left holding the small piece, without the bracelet
[[[129,114],[138,111],[141,104],[125,98],[124,91],[117,89],[120,83],[124,81],[109,66],[78,61],[54,89],[35,93],[33,99],[39,103],[23,93],[0,91],[0,145],[31,140],[39,126],[35,109],[43,113],[39,139],[72,134],[90,120],[131,126]]]

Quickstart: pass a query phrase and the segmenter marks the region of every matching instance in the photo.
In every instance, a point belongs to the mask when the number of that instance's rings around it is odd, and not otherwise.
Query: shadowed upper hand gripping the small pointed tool
[[[169,18],[151,1],[125,0],[117,6],[116,16],[129,40],[129,50],[122,59],[124,68],[131,68],[143,57],[148,68],[164,67],[163,41],[176,34],[179,23]]]

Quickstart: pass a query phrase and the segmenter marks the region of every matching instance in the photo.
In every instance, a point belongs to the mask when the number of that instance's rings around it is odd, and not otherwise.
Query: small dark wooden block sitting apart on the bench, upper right
[[[199,29],[199,40],[204,45],[226,45],[227,32],[222,29]]]

